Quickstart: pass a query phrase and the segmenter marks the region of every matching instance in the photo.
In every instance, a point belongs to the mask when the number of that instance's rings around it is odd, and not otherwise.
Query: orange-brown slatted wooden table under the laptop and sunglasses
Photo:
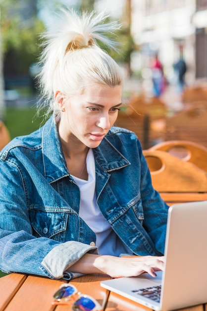
[[[101,305],[106,301],[105,311],[151,311],[129,299],[107,291],[100,281],[109,277],[89,274],[72,280],[82,294],[94,297]],[[0,278],[0,311],[69,311],[69,306],[52,306],[53,294],[64,280],[11,273]],[[183,311],[207,311],[199,305]]]

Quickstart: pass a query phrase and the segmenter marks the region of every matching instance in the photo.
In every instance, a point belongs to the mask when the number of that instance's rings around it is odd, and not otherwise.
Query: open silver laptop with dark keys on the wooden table
[[[207,201],[169,208],[164,255],[164,271],[156,277],[143,273],[101,286],[155,311],[207,303]]]

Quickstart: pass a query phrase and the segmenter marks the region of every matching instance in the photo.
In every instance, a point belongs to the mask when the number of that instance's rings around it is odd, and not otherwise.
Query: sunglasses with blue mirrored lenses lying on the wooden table
[[[103,308],[95,299],[79,293],[72,284],[63,283],[53,297],[53,306],[69,305],[72,302],[73,311],[103,311]]]

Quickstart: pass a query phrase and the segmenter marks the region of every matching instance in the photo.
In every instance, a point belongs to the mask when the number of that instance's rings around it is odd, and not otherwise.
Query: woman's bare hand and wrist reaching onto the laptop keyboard
[[[85,254],[69,268],[72,272],[104,273],[113,278],[138,276],[148,272],[156,276],[155,271],[163,270],[164,256],[115,257],[108,255]]]

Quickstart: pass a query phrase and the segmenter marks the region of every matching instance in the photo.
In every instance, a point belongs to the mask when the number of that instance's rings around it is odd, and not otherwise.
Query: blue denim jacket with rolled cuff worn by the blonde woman
[[[121,240],[139,255],[164,252],[168,206],[154,190],[134,133],[112,127],[99,147],[97,204]],[[96,234],[79,217],[80,191],[70,175],[51,117],[0,154],[0,269],[53,279],[98,253]]]

